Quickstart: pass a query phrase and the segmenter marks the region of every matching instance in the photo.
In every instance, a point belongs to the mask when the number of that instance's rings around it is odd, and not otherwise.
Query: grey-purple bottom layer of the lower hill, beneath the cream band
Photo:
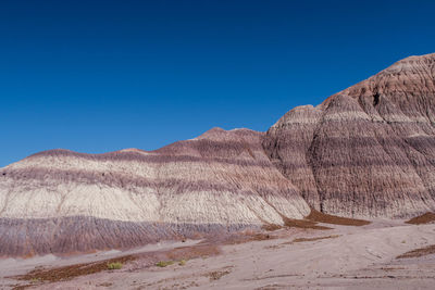
[[[0,257],[128,249],[161,240],[198,239],[244,229],[259,227],[244,224],[123,222],[91,216],[0,218]]]

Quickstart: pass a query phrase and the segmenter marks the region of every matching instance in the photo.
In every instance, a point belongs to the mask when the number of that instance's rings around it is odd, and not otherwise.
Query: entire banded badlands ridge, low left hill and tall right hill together
[[[0,169],[0,256],[128,248],[303,218],[435,210],[435,54],[157,151],[37,153]]]

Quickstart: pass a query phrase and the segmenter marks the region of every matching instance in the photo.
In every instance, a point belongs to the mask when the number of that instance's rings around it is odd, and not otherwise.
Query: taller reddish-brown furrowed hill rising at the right
[[[402,217],[435,209],[435,54],[410,56],[296,108],[263,141],[269,157],[314,209]]]

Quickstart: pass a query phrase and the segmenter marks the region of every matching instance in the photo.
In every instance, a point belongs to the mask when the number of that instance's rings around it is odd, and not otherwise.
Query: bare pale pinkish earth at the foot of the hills
[[[360,227],[326,226],[333,229],[277,229],[253,235],[254,240],[247,242],[211,244],[187,240],[184,243],[167,242],[127,252],[110,251],[62,259],[49,255],[21,261],[2,260],[0,287],[433,289],[435,247],[431,245],[435,244],[435,224],[409,225],[403,220],[373,220]],[[411,252],[421,248],[425,249]],[[116,261],[121,257],[124,259],[121,269],[107,269],[105,260]],[[89,264],[102,260],[102,263]],[[157,266],[159,261],[170,263]],[[76,277],[63,278],[65,273],[62,270],[44,270],[78,263],[83,265],[64,268],[70,274],[84,268],[84,273]],[[101,265],[102,270],[87,274]],[[16,276],[29,270],[35,270],[35,276]]]

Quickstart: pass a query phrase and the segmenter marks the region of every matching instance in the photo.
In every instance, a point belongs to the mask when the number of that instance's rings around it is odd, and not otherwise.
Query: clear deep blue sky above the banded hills
[[[434,1],[1,1],[0,166],[266,130],[435,52]]]

